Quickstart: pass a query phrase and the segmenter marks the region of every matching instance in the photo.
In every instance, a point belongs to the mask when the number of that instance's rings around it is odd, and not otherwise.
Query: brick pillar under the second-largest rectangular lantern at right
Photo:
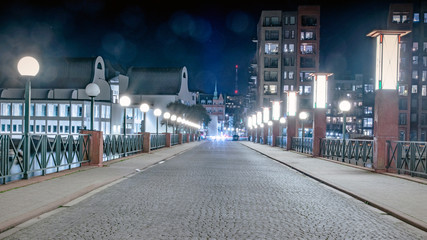
[[[313,111],[313,156],[320,156],[320,140],[326,137],[326,109],[316,108]]]

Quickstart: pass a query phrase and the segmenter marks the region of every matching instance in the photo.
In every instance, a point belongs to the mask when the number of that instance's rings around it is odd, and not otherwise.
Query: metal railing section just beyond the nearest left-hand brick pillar
[[[103,160],[109,161],[142,152],[143,139],[142,134],[104,135]]]

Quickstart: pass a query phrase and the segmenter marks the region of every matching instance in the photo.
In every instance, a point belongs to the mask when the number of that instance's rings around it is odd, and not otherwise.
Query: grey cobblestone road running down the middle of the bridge
[[[7,239],[426,239],[238,142],[207,142]]]

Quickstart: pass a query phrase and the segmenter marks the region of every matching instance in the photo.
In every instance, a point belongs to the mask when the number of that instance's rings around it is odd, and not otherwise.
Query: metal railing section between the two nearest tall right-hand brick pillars
[[[372,168],[373,140],[322,138],[320,154],[324,158]]]

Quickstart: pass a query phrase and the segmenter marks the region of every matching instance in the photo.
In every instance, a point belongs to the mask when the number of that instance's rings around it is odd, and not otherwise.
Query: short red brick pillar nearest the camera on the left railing
[[[102,167],[103,165],[103,154],[104,154],[104,139],[102,137],[102,131],[90,131],[80,130],[81,134],[90,134],[89,143],[89,165]],[[85,141],[89,136],[85,136]],[[83,164],[87,165],[87,164]]]

